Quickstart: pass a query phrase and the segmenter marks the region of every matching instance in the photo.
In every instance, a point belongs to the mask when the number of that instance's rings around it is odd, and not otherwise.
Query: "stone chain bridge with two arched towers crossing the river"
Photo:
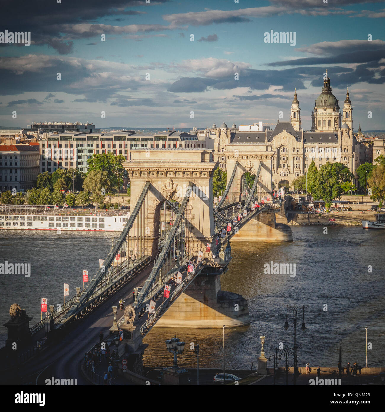
[[[131,156],[124,163],[131,180],[128,222],[86,289],[52,314],[51,329],[65,332],[147,269],[149,276],[134,289],[133,303],[110,329],[124,331],[128,351],[140,362],[146,347],[142,339],[155,325],[219,328],[250,323],[247,301],[220,287],[220,275],[231,261],[230,240],[243,239],[245,231],[248,241],[269,236],[285,241],[291,240],[291,231],[276,227],[275,213],[285,215],[287,202],[273,197],[271,169],[262,161],[246,167],[233,162],[226,189],[215,203],[212,178],[218,163],[212,150],[138,149]],[[251,187],[245,171],[254,174]],[[30,334],[41,328],[44,320]]]

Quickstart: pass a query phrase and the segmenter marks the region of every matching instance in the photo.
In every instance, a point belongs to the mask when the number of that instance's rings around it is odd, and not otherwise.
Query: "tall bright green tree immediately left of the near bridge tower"
[[[122,162],[126,162],[126,158],[123,155],[114,155],[112,152],[95,154],[87,160],[87,163],[89,164],[88,173],[95,170],[107,172],[111,190],[117,190],[118,173],[120,175],[121,185],[123,184],[124,168],[121,165]]]

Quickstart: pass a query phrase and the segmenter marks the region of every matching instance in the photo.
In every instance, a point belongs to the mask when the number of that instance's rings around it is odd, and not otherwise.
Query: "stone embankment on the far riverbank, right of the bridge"
[[[364,220],[376,220],[376,212],[374,211],[345,211],[338,213],[321,213],[313,214],[301,211],[289,211],[287,212],[287,218],[275,215],[275,219],[278,223],[286,223],[287,225],[344,225],[344,226],[360,226],[362,225],[362,219]]]

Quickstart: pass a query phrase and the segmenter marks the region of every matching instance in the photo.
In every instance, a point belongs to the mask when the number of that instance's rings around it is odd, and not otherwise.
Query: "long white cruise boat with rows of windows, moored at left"
[[[0,229],[121,232],[130,217],[129,211],[122,210],[67,210],[46,205],[1,205]]]

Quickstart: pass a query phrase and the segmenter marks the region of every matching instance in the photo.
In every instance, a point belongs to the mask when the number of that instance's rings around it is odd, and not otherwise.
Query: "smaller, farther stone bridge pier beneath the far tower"
[[[260,213],[231,238],[231,241],[247,242],[287,242],[292,240],[292,228],[284,223],[277,223],[275,213]]]

